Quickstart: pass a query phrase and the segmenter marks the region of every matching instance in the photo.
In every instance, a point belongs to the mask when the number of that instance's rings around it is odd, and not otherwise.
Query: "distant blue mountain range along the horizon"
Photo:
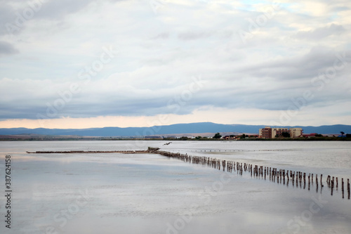
[[[152,136],[169,134],[201,134],[217,132],[236,132],[258,134],[258,129],[265,125],[244,125],[244,124],[215,124],[211,122],[192,123],[192,124],[172,124],[165,126],[150,127],[104,127],[93,129],[0,129],[0,135],[20,135],[20,134],[41,134],[55,136]],[[277,126],[274,126],[277,127]],[[304,134],[345,134],[351,133],[351,125],[326,125],[326,126],[279,126],[279,127],[300,127]]]

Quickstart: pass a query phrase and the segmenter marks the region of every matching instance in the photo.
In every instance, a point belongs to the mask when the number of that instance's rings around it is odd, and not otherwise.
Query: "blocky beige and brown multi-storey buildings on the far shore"
[[[291,138],[300,137],[303,135],[303,129],[301,128],[271,128],[270,126],[265,126],[264,129],[260,129],[258,134],[259,138],[271,139],[279,136],[289,136]]]

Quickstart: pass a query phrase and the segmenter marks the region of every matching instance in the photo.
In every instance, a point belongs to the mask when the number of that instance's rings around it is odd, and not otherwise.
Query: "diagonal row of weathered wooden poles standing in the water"
[[[310,185],[314,181],[314,174],[306,174],[302,171],[292,171],[285,169],[277,169],[274,167],[263,167],[248,163],[239,163],[234,161],[226,161],[226,160],[218,160],[212,157],[201,157],[201,156],[191,156],[187,154],[180,154],[179,152],[166,152],[155,150],[154,153],[159,155],[164,155],[166,157],[170,157],[177,160],[183,160],[184,162],[189,162],[192,164],[202,164],[207,167],[213,167],[214,169],[223,170],[223,171],[237,171],[237,174],[242,175],[243,171],[247,171],[251,174],[251,176],[256,178],[265,178],[266,176],[270,176],[270,181],[277,183],[283,183],[286,186],[289,186],[289,181],[291,181],[292,185],[296,183],[296,188],[300,186],[300,188],[305,189],[306,184],[308,185],[308,190],[310,190]],[[320,175],[318,179],[318,175],[315,174],[315,184],[316,184],[316,192],[318,192],[319,185],[322,188],[323,184],[323,175]],[[328,176],[326,178],[326,184],[329,188],[331,188],[331,195],[333,195],[333,189],[336,188],[338,190],[338,177]],[[341,178],[341,191],[344,198],[344,178]],[[347,178],[347,198],[350,200],[350,179]]]

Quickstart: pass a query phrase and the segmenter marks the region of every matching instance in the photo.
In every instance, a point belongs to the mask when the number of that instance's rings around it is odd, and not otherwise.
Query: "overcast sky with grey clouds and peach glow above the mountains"
[[[351,124],[350,30],[350,0],[0,0],[0,128]]]

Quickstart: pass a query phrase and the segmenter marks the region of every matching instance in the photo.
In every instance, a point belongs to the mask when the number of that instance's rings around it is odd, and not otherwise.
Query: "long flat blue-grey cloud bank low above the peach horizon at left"
[[[142,116],[142,115],[157,115],[165,112],[172,112],[177,110],[176,107],[167,107],[169,98],[164,97],[138,97],[138,98],[102,98],[94,100],[95,95],[82,96],[82,98],[75,98],[71,102],[65,103],[64,108],[55,108],[55,101],[60,98],[50,98],[45,102],[40,103],[39,100],[34,101],[21,100],[13,105],[4,105],[1,102],[0,108],[6,110],[0,113],[0,119],[26,118],[37,119],[40,115],[44,119],[60,118],[60,117],[98,117],[106,115],[124,115],[124,116]],[[107,100],[108,99],[108,100]],[[50,105],[47,105],[49,103]],[[181,108],[177,114],[191,112],[193,109],[187,105]]]

